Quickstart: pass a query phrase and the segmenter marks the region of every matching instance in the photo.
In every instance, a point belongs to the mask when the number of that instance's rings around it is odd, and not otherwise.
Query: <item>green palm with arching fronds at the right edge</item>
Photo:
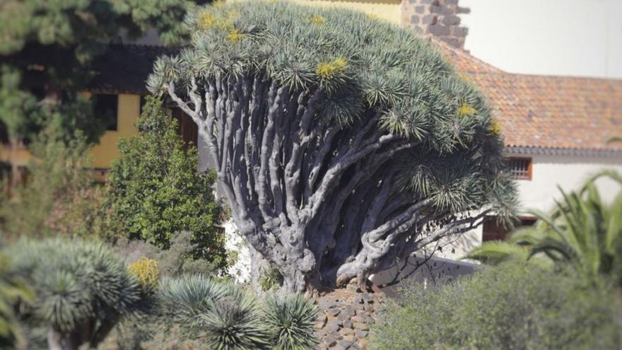
[[[622,176],[604,170],[592,176],[578,192],[556,201],[551,214],[532,211],[536,226],[522,228],[505,242],[483,243],[467,258],[498,263],[507,259],[532,259],[570,267],[592,284],[604,276],[622,285],[622,191],[611,204],[602,201],[594,182],[608,177],[622,185]]]

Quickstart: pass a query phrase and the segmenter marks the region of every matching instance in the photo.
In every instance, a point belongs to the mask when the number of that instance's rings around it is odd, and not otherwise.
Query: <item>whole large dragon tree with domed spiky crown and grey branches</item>
[[[512,212],[490,108],[411,30],[286,1],[186,23],[192,46],[148,87],[194,119],[255,266],[287,291],[363,281]]]

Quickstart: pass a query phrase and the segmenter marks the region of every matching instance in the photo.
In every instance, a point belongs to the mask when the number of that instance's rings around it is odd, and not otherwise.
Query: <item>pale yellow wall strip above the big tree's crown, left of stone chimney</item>
[[[299,4],[342,7],[363,11],[385,21],[401,23],[400,0],[292,0]]]

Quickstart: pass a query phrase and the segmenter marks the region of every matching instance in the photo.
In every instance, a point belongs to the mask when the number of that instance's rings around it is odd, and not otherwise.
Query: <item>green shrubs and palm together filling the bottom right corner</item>
[[[620,349],[622,191],[604,202],[595,181],[563,194],[551,214],[484,243],[473,276],[407,285],[376,329],[378,349]]]

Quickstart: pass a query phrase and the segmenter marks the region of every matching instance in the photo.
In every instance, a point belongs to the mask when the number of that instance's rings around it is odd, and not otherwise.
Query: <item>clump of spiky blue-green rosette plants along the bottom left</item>
[[[20,240],[3,253],[13,262],[11,276],[35,292],[35,298],[20,292],[9,301],[17,314],[1,319],[20,323],[23,332],[13,327],[1,338],[20,349],[96,348],[105,341],[119,349],[166,349],[171,342],[192,349],[304,350],[317,344],[317,310],[303,296],[259,301],[242,286],[204,274],[163,276],[155,260],[127,266],[93,240]]]

